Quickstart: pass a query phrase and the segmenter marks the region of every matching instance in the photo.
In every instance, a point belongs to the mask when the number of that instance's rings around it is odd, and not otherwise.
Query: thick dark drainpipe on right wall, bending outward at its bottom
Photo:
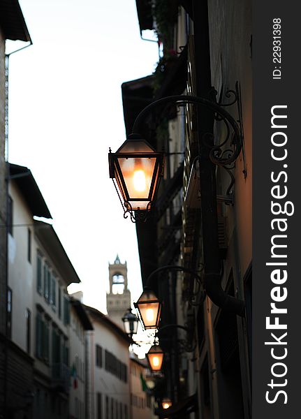
[[[196,94],[207,97],[212,89],[210,63],[210,36],[208,22],[208,1],[192,1],[193,31],[196,66]],[[202,54],[199,52],[202,51]],[[199,110],[198,110],[199,111]],[[198,117],[198,154],[200,168],[201,232],[203,238],[205,290],[221,309],[244,316],[244,301],[231,297],[221,288],[221,259],[217,233],[215,166],[210,160],[210,147],[205,144],[204,135],[213,132],[214,115],[206,108]],[[208,141],[208,137],[206,141]],[[213,142],[213,140],[212,140]],[[212,144],[213,145],[213,144]]]

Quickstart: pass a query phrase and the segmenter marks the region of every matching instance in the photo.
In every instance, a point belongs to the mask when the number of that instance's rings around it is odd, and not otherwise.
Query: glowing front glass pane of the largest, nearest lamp
[[[129,200],[147,200],[146,203],[142,203],[146,207],[149,202],[149,191],[152,186],[156,157],[119,157],[118,163],[129,193]],[[141,203],[138,204],[133,202],[136,207],[141,206]]]

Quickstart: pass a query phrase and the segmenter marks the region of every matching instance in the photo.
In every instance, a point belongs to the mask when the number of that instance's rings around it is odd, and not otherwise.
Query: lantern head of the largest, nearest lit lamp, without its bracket
[[[163,175],[163,161],[163,153],[156,152],[138,134],[129,135],[116,153],[110,149],[110,177],[116,180],[124,218],[129,213],[133,222],[147,219]]]

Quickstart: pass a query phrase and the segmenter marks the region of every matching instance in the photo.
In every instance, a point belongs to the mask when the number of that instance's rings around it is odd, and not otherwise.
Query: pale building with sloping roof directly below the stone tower
[[[87,418],[130,419],[129,337],[108,316],[85,308],[94,328],[87,336]]]

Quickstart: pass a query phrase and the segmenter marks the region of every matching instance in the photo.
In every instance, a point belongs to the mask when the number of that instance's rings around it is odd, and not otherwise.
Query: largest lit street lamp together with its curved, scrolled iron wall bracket
[[[211,110],[212,116],[217,121],[224,122],[226,135],[222,140],[212,141],[210,160],[216,165],[223,166],[229,172],[228,166],[235,162],[242,149],[242,118],[238,82],[235,91],[229,90],[226,92],[227,97],[230,94],[233,94],[234,100],[227,104],[216,103],[214,100],[198,96],[167,96],[150,103],[138,114],[129,138],[117,149],[116,153],[112,153],[111,149],[109,152],[110,177],[113,182],[116,179],[114,184],[124,208],[124,218],[129,213],[133,222],[146,221],[147,215],[154,207],[159,180],[163,176],[163,152],[156,152],[147,141],[142,139],[141,135],[137,134],[145,115],[154,108],[167,103],[194,103]],[[239,124],[223,109],[235,102],[237,102],[240,115]],[[230,145],[226,145],[228,140],[230,140]],[[231,187],[233,183],[231,182]]]

